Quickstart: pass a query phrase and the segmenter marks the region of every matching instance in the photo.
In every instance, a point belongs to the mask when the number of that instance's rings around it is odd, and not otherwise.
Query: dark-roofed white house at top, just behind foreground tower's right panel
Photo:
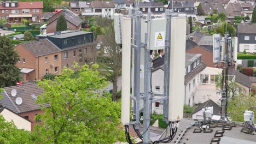
[[[174,13],[178,13],[179,16],[196,17],[197,11],[194,6],[194,2],[177,2],[169,3],[168,9],[172,9]]]

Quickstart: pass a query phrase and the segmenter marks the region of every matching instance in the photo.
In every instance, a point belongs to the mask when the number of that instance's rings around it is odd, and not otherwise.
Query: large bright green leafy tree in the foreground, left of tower
[[[124,140],[120,129],[120,105],[110,97],[102,97],[101,91],[107,85],[100,76],[98,65],[63,69],[55,81],[38,81],[44,93],[36,103],[50,104],[42,107],[42,127],[33,131],[35,143],[114,143]]]

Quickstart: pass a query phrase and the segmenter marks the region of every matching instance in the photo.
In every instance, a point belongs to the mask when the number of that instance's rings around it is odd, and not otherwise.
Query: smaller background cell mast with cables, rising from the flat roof
[[[221,52],[220,52],[221,50]],[[221,107],[220,118],[222,121],[228,120],[228,70],[234,69],[237,58],[237,37],[229,37],[226,32],[224,37],[221,34],[213,35],[213,62],[221,63],[222,87],[221,87]]]

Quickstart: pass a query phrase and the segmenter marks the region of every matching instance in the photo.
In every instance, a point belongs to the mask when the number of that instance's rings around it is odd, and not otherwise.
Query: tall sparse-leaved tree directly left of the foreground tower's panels
[[[121,47],[115,43],[115,33],[113,20],[109,20],[106,28],[106,35],[102,40],[103,50],[97,57],[97,63],[100,65],[101,74],[105,76],[108,81],[113,83],[113,100],[117,101],[120,95],[118,94],[118,76],[121,75],[122,55]]]

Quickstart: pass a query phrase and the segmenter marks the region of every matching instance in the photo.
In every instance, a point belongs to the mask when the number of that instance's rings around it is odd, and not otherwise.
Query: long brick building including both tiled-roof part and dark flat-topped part
[[[63,67],[69,68],[74,62],[94,63],[97,51],[93,34],[84,31],[40,35],[14,49],[20,55],[16,65],[21,69],[23,82],[42,80],[48,73],[59,75]]]

